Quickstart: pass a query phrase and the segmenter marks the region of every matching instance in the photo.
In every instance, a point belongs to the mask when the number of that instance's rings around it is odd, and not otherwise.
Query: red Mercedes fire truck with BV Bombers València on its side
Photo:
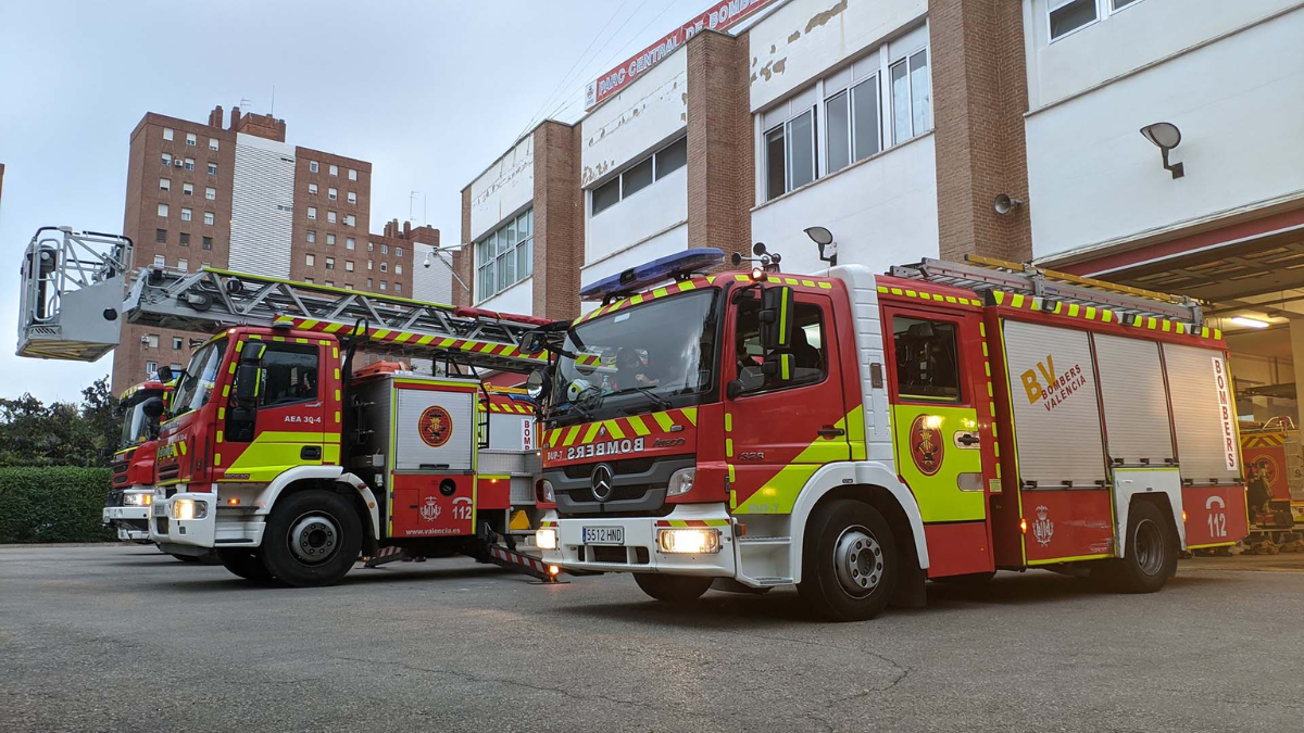
[[[1245,535],[1197,303],[995,262],[794,275],[760,245],[750,274],[695,274],[721,254],[595,283],[529,339],[556,355],[546,561],[668,601],[795,584],[863,620],[998,569],[1158,591]]]

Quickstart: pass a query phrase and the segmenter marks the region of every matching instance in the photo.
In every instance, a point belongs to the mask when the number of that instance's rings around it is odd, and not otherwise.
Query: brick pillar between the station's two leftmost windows
[[[579,271],[584,263],[584,190],[579,185],[580,130],[548,120],[535,128],[533,136],[533,314],[575,318],[579,316]],[[467,228],[468,205],[469,200],[464,200]]]

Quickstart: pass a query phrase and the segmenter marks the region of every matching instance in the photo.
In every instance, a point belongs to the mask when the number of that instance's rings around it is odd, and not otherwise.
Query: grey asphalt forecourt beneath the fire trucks
[[[1304,720],[1304,558],[1119,596],[1046,571],[865,623],[795,592],[452,558],[252,586],[153,548],[0,548],[0,730],[1254,730]]]

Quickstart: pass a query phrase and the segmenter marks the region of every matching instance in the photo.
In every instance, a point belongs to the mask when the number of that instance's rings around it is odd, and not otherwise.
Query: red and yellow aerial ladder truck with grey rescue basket
[[[21,300],[20,356],[94,361],[124,323],[211,334],[183,373],[160,369],[176,380],[166,411],[149,403],[164,552],[214,549],[289,586],[331,584],[360,557],[556,574],[514,541],[535,513],[533,408],[480,378],[541,365],[519,346],[546,321],[211,267],[134,273],[129,239],[67,227],[33,237]],[[433,357],[436,373],[355,368],[363,352]],[[496,445],[499,415],[518,425]]]

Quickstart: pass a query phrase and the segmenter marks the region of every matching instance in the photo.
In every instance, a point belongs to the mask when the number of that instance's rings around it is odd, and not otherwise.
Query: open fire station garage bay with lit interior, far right
[[[1269,232],[1129,260],[1104,271],[1073,271],[1205,303],[1209,326],[1222,330],[1231,353],[1251,526],[1304,522],[1304,416],[1296,391],[1304,380],[1304,233]]]

